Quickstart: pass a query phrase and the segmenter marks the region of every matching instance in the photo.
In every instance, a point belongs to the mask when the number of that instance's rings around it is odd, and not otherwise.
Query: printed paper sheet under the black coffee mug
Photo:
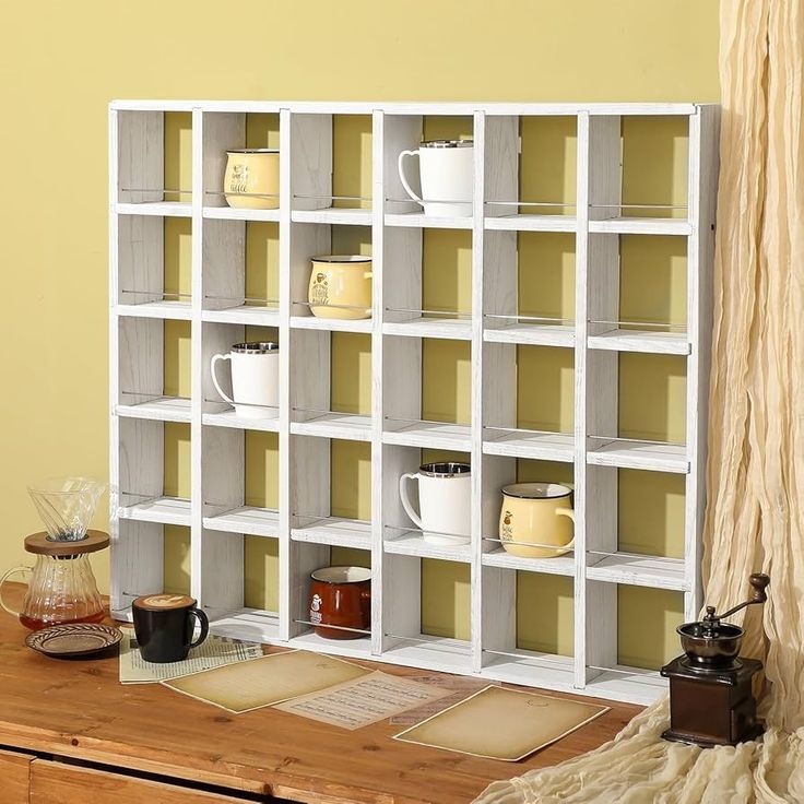
[[[120,684],[153,684],[262,655],[262,646],[257,642],[241,642],[238,639],[210,635],[202,645],[190,651],[185,661],[154,664],[146,662],[140,654],[133,629],[121,630]]]

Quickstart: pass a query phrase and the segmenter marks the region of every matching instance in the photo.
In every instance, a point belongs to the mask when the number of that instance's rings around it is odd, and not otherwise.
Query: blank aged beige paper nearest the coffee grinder
[[[394,740],[516,762],[607,711],[594,704],[489,686]]]

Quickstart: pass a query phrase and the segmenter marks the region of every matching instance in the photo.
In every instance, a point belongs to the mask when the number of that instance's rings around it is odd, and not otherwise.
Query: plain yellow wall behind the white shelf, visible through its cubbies
[[[212,0],[140,0],[128,4],[46,0],[36,5],[0,0],[0,93],[7,113],[0,126],[0,153],[7,155],[7,192],[0,198],[4,235],[0,238],[0,265],[7,294],[0,316],[0,356],[8,378],[0,394],[2,564],[23,559],[22,537],[38,529],[25,493],[27,480],[67,473],[107,475],[109,99],[711,102],[719,95],[717,13],[717,3],[698,0],[500,0],[494,4],[486,0],[461,4],[422,0],[333,4],[311,0],[270,5],[244,0],[238,5],[238,20],[246,22],[237,25],[237,46],[232,50],[229,20]],[[21,35],[31,31],[36,32],[33,39]],[[445,31],[450,32],[448,39]],[[327,55],[323,61],[321,54]],[[442,125],[428,123],[428,134],[440,135]],[[625,194],[632,201],[662,202],[681,192],[677,157],[685,144],[678,131],[665,130],[658,135],[649,128],[649,121],[627,121],[626,143],[634,146],[626,151]],[[255,119],[249,122],[249,145],[275,145],[275,120]],[[188,187],[182,154],[188,151],[189,135],[180,118],[168,125],[166,180],[173,189]],[[547,194],[551,200],[571,203],[574,126],[566,120],[533,123],[523,129],[523,138],[525,145],[533,145],[528,147],[532,157],[525,154],[523,158],[523,193],[534,200]],[[366,194],[368,143],[365,120],[346,121],[336,128],[335,158],[343,162],[343,153],[362,154],[358,174],[336,176],[336,192]],[[540,159],[537,153],[544,153],[545,158]],[[186,292],[188,286],[189,233],[184,226],[186,222],[166,224],[167,287],[175,293]],[[275,261],[275,228],[252,225],[249,229],[249,294],[271,297],[275,280],[268,267]],[[365,239],[362,244],[335,241],[334,247],[364,252],[370,248]],[[677,302],[683,296],[683,255],[673,244],[651,256],[646,256],[643,248],[639,243],[623,245],[624,312],[665,320],[667,316],[670,320],[683,318],[683,306]],[[450,304],[454,309],[466,308],[465,249],[459,235],[430,238],[428,233],[428,300],[447,305],[447,309]],[[436,276],[431,260],[440,260],[449,251],[456,252],[449,257],[449,271],[446,276]],[[520,281],[520,311],[552,315],[548,311],[553,310],[571,316],[571,238],[523,236],[520,268],[523,263],[532,275]],[[652,298],[659,294],[651,287],[661,288],[665,297],[670,288],[670,310],[666,305],[657,308]],[[189,390],[181,370],[188,335],[181,324],[166,324],[166,390],[170,392]],[[26,348],[26,344],[37,348]],[[333,359],[348,365],[344,377],[364,376],[364,358],[355,356],[356,350],[362,354],[354,343],[333,343]],[[677,365],[671,359],[647,369],[631,357],[622,367],[624,390],[629,383],[645,387],[643,378],[649,376],[667,404],[660,404],[659,415],[651,418],[624,401],[624,430],[664,429],[670,437],[683,437],[674,413],[674,400],[683,394]],[[428,346],[425,363],[425,407],[440,412],[440,417],[465,416],[460,388],[453,388],[448,397],[451,414],[448,405],[437,404],[442,370],[452,371],[459,383],[465,382],[465,355],[460,347],[450,353]],[[646,370],[651,374],[645,375]],[[338,400],[344,410],[362,406],[362,389],[363,381],[355,393],[344,380],[333,392],[333,402]],[[564,400],[557,406],[555,401],[549,405],[531,402],[539,416],[552,405],[558,426],[566,426]],[[180,492],[187,439],[179,429],[168,428],[166,435],[166,488],[174,483]],[[259,448],[256,450],[259,453]],[[249,474],[252,460],[262,461],[264,456],[249,457]],[[359,457],[357,461],[359,465]],[[666,541],[665,525],[675,521],[679,490],[683,494],[677,486],[658,487],[651,482],[646,486],[635,477],[620,484],[620,505],[635,509],[630,519],[624,518],[620,537],[646,549],[646,539],[649,545],[654,543],[651,540]],[[645,505],[640,513],[636,509],[640,498],[648,498],[646,489],[666,505],[658,509]],[[360,500],[340,498],[339,505],[363,510]],[[646,528],[640,531],[636,523],[645,517]],[[105,520],[102,511],[95,524],[104,527]],[[166,546],[179,570],[186,555],[180,531],[172,529]],[[270,540],[260,544],[263,555],[250,544],[247,555],[253,558],[252,566],[259,564],[260,571],[270,576],[275,565],[265,551]],[[95,567],[106,588],[107,557],[98,556]],[[182,582],[180,571],[174,580]],[[264,590],[252,580],[247,584],[249,594],[259,598]],[[434,620],[445,619],[439,611],[454,608],[438,596],[428,599],[427,605]],[[664,616],[667,604],[654,608]],[[461,627],[453,618],[452,628],[460,631]],[[554,637],[558,650],[566,643],[564,634]],[[537,641],[541,637],[528,638]]]

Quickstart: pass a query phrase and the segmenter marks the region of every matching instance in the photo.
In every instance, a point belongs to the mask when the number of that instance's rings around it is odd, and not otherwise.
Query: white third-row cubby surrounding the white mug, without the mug
[[[203,399],[201,421],[209,427],[226,427],[238,430],[264,430],[276,433],[280,426],[279,407],[265,406],[264,418],[249,418],[238,416],[237,411],[220,397],[212,382],[212,357],[216,354],[226,355],[232,346],[244,341],[277,342],[279,335],[272,327],[246,327],[239,323],[212,323],[201,326],[201,363],[203,375],[201,393]],[[226,394],[234,399],[232,391],[230,363],[217,363],[217,378]]]

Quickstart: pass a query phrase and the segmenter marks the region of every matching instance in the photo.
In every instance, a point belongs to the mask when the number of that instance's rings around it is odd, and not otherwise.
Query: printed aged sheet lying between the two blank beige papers
[[[450,695],[431,684],[418,684],[380,671],[279,704],[274,708],[341,729],[362,729],[406,709]]]

